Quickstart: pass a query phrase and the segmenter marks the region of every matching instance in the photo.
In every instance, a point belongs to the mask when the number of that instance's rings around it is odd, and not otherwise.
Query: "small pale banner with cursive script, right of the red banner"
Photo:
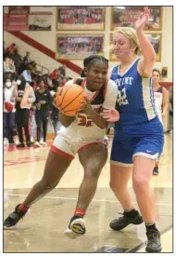
[[[52,15],[30,15],[29,30],[51,31]]]

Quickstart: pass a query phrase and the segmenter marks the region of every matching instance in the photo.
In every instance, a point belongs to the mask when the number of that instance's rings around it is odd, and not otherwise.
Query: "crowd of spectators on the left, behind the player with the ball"
[[[42,74],[30,51],[22,57],[14,43],[5,47],[4,42],[3,59],[4,144],[46,145],[48,118],[56,134],[60,128],[55,93],[72,78],[66,76],[65,66]]]

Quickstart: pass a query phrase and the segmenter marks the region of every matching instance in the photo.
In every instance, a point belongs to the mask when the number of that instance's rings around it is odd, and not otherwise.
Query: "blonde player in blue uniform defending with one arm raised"
[[[143,31],[150,17],[144,12],[135,22],[135,29],[116,28],[113,36],[113,50],[119,64],[114,67],[111,79],[119,88],[117,109],[119,122],[111,151],[110,187],[117,196],[123,216],[110,222],[114,230],[121,230],[128,224],[145,221],[146,251],[161,250],[160,234],[155,223],[154,197],[150,191],[150,179],[158,156],[163,149],[163,127],[154,104],[154,88],[150,81],[156,61],[156,53]],[[141,51],[141,57],[139,57]],[[105,111],[104,117],[112,111]],[[133,208],[127,189],[132,175],[132,187],[136,195],[139,212]]]

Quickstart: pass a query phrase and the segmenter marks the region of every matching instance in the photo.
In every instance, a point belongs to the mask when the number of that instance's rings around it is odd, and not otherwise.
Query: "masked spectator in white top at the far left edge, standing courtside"
[[[12,101],[13,85],[11,78],[5,78],[4,84],[4,116],[3,116],[3,137],[4,141],[8,141],[10,135],[13,137],[13,141],[18,143],[17,129],[15,123],[15,102]]]

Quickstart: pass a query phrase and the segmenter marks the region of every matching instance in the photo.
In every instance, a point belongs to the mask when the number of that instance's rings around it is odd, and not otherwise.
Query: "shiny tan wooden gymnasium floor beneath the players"
[[[111,140],[109,151],[110,147]],[[29,149],[10,146],[5,152],[4,218],[42,177],[48,150],[49,146]],[[108,186],[108,161],[85,216],[86,235],[77,240],[64,236],[81,181],[82,166],[76,157],[58,187],[32,206],[16,230],[4,231],[4,252],[145,252],[144,224],[130,225],[121,232],[112,231],[108,226],[118,212],[122,212]],[[172,134],[165,134],[159,175],[152,178],[151,185],[156,199],[157,226],[162,234],[162,252],[172,252]],[[129,187],[132,192],[132,182]],[[132,201],[137,208],[133,192]]]

